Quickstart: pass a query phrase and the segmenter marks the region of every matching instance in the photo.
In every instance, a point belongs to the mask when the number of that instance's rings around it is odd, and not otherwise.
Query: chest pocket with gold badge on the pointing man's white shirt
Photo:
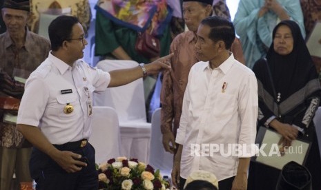
[[[77,94],[61,94],[48,105],[48,116],[53,116],[60,118],[61,120],[66,120],[74,118],[77,113],[81,112],[81,107],[79,105],[79,98]],[[72,112],[65,113],[64,109],[66,106],[71,106],[73,108]]]

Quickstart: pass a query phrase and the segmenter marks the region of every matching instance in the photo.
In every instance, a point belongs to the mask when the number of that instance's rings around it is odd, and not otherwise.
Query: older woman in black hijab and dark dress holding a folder
[[[321,87],[297,23],[282,21],[275,26],[266,59],[257,61],[253,72],[259,96],[257,127],[275,129],[284,146],[296,138],[312,142],[305,166],[311,172],[313,189],[321,189],[320,151],[313,124]],[[249,189],[275,189],[279,174],[279,169],[251,162]]]

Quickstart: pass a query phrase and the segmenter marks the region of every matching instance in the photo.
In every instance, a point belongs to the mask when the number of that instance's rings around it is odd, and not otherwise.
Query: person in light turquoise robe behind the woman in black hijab
[[[299,0],[240,0],[233,23],[240,36],[246,66],[266,56],[272,43],[272,31],[283,20],[300,25],[305,36],[303,14]]]

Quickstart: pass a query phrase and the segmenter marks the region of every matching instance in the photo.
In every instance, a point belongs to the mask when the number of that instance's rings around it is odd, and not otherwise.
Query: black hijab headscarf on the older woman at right
[[[281,93],[281,102],[304,87],[309,81],[318,78],[315,66],[313,65],[311,55],[307,49],[307,45],[302,37],[300,27],[295,21],[281,21],[273,30],[273,39],[275,32],[280,25],[286,25],[290,28],[293,36],[293,50],[290,54],[280,55],[274,50],[272,42],[266,59],[271,70],[271,76],[275,86],[275,92]],[[273,89],[266,70],[264,61],[260,60],[258,67],[253,67],[253,71],[257,75],[264,89],[273,96]],[[256,65],[256,64],[255,64]]]

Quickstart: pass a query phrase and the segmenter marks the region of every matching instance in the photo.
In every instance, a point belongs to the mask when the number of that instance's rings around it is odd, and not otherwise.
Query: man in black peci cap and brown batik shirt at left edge
[[[13,173],[18,188],[20,182],[32,182],[28,167],[32,146],[15,127],[18,106],[8,108],[6,103],[14,100],[19,105],[24,81],[46,59],[50,42],[28,30],[28,0],[3,1],[1,16],[6,32],[0,34],[0,189],[7,190]]]

